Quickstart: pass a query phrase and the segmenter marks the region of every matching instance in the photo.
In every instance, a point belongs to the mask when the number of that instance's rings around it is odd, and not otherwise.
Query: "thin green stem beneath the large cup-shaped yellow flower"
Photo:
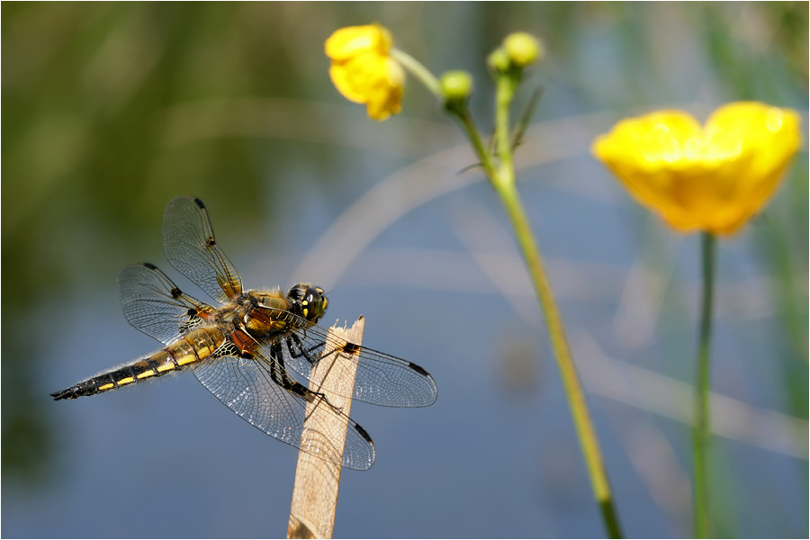
[[[709,536],[708,454],[709,454],[709,349],[712,338],[712,296],[715,282],[716,239],[710,232],[701,236],[703,258],[703,299],[700,306],[698,370],[695,384],[695,536]]]

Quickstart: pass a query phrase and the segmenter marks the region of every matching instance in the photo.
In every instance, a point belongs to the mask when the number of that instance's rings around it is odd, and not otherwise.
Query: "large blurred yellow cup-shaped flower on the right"
[[[801,142],[799,116],[729,103],[705,126],[681,111],[619,121],[593,153],[674,229],[732,234],[760,211]]]

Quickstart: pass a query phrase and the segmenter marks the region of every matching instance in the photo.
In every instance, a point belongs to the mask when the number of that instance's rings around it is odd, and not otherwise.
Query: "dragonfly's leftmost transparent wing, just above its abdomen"
[[[157,266],[127,266],[118,275],[124,317],[147,336],[168,344],[214,311],[183,293]]]

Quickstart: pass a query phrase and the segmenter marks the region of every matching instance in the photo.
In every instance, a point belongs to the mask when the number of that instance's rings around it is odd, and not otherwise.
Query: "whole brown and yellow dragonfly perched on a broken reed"
[[[342,397],[386,407],[427,407],[437,400],[436,382],[419,365],[335,338],[317,326],[329,305],[320,287],[295,284],[286,294],[279,288],[245,290],[199,199],[168,203],[163,242],[171,265],[219,307],[184,293],[157,266],[127,266],[118,275],[124,316],[164,348],[50,394],[55,400],[191,371],[218,400],[267,435],[361,471],[374,464],[371,437],[295,374],[309,381],[312,369],[329,358],[331,371],[356,370],[354,388],[342,391],[351,395],[338,394]],[[312,407],[320,409],[318,415],[311,414]],[[320,435],[313,441],[302,436],[305,429]],[[341,459],[329,450],[344,433]]]

